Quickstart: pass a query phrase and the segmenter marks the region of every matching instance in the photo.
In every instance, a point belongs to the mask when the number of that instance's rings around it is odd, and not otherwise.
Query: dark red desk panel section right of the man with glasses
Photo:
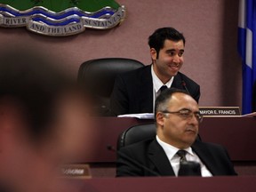
[[[205,117],[200,135],[227,148],[232,161],[256,161],[255,117]]]

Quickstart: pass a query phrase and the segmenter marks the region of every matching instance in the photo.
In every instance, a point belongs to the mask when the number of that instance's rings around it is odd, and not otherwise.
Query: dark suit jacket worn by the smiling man
[[[198,102],[200,86],[188,76],[179,72],[174,76],[172,87],[186,90],[182,81],[185,82],[190,95]],[[114,116],[153,112],[151,65],[116,77],[110,98],[110,108]]]

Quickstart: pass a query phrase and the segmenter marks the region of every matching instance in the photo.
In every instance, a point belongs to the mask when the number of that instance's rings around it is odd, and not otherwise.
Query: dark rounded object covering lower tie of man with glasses
[[[181,162],[178,176],[202,176],[201,166],[193,161]]]

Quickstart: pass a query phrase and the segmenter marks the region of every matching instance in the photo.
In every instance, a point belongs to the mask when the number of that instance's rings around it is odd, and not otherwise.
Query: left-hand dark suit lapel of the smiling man
[[[151,76],[151,65],[144,68],[140,73],[139,95],[140,111],[153,112],[153,82]]]

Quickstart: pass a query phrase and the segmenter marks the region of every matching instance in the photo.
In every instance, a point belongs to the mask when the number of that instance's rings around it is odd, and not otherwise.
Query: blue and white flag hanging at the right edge
[[[252,96],[256,84],[256,0],[240,0],[238,52],[243,60],[242,111],[247,114],[252,113],[252,100],[256,100]]]

